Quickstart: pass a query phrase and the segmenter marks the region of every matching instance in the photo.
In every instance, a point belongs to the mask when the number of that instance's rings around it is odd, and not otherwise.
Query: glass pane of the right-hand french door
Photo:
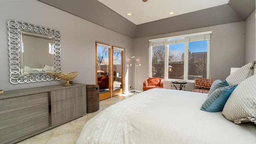
[[[122,88],[122,51],[114,50],[113,52],[113,90],[120,90]]]

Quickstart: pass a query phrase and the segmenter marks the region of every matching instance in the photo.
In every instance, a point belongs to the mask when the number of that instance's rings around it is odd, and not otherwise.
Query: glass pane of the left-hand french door
[[[109,48],[97,46],[97,77],[100,94],[109,92]]]

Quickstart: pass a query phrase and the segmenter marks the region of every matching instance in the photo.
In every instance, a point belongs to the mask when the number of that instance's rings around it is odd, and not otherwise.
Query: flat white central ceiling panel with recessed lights
[[[98,0],[130,22],[138,25],[189,12],[228,4],[229,0]],[[174,12],[170,15],[169,12]],[[127,16],[127,13],[132,13]]]

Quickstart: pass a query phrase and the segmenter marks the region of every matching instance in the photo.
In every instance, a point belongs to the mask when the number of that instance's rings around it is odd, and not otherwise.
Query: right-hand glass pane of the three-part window
[[[188,43],[188,80],[206,78],[207,40]]]

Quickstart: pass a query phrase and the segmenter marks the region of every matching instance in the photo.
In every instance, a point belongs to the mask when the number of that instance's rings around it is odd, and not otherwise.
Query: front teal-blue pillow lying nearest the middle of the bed
[[[214,90],[214,92],[212,92],[212,94],[210,94],[210,96],[205,100],[200,110],[204,110],[206,112],[222,111],[236,86],[238,86],[238,84],[233,86],[224,86]]]

